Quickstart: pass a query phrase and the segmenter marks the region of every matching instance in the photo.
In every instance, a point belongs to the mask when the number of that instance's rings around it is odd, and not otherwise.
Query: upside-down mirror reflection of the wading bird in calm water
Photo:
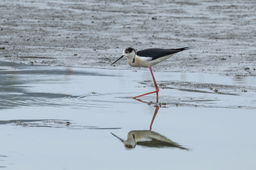
[[[141,145],[142,147],[148,148],[179,148],[182,150],[188,150],[187,148],[182,147],[179,143],[174,142],[157,132],[151,131],[154,119],[159,110],[158,106],[154,107],[156,108],[156,110],[152,118],[150,130],[130,131],[127,135],[127,140],[123,140],[113,133],[111,134],[117,137],[121,142],[123,142],[124,147],[127,149],[133,149],[136,147],[136,145]]]

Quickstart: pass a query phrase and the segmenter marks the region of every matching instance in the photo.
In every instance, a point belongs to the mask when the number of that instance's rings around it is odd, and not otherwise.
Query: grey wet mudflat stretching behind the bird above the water
[[[1,0],[0,23],[2,61],[140,69],[125,59],[110,64],[129,46],[193,46],[154,71],[256,76],[254,0]]]

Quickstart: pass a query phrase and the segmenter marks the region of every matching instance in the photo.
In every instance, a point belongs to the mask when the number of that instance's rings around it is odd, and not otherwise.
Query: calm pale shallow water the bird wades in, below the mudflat
[[[131,99],[154,91],[149,70],[0,62],[0,167],[256,167],[256,78],[154,75],[159,103]]]

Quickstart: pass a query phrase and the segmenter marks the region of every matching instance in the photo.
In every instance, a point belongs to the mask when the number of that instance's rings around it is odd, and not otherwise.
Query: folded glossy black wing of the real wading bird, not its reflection
[[[191,47],[177,48],[177,49],[148,48],[145,50],[138,51],[136,54],[141,57],[152,57],[152,60],[156,60],[158,58],[179,53],[184,50],[188,50],[190,48]]]

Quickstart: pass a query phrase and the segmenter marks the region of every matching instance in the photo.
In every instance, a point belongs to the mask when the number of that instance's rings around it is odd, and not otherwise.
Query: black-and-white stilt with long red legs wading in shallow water
[[[173,56],[175,53],[182,52],[184,50],[188,50],[191,47],[184,47],[184,48],[177,48],[177,49],[161,49],[161,48],[148,48],[141,51],[135,51],[134,48],[128,47],[123,51],[123,55],[117,59],[114,63],[116,63],[118,60],[120,60],[123,57],[127,57],[127,62],[132,67],[150,67],[151,75],[156,87],[156,91],[152,91],[149,93],[141,94],[138,96],[133,97],[138,98],[140,96],[156,93],[157,94],[157,103],[158,103],[158,91],[159,88],[157,86],[156,80],[153,75],[153,71],[151,66],[166,60],[167,58]],[[113,65],[112,63],[111,65]]]

